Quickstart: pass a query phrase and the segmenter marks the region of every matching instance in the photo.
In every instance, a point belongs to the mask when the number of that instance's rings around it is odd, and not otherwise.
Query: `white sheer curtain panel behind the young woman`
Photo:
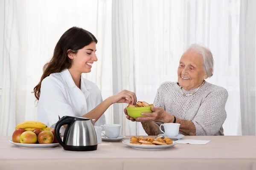
[[[70,27],[84,28],[99,40],[99,61],[83,76],[97,83],[103,99],[112,95],[111,9],[111,0],[6,0],[0,136],[12,135],[19,122],[36,120],[31,92]],[[112,110],[105,112],[107,122],[113,122]]]

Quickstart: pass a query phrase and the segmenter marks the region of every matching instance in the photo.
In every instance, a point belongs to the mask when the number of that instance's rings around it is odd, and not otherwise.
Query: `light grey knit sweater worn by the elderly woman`
[[[196,89],[182,90],[185,94],[191,94]],[[177,118],[192,121],[196,135],[224,135],[222,125],[227,117],[227,97],[225,88],[208,82],[191,96],[183,96],[177,82],[163,82],[157,89],[154,107],[161,107]]]

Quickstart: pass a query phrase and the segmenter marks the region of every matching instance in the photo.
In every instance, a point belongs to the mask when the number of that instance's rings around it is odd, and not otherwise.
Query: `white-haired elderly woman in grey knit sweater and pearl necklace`
[[[213,58],[209,49],[193,44],[180,58],[178,82],[163,82],[157,89],[152,113],[142,113],[141,122],[148,135],[158,135],[162,123],[179,123],[183,135],[224,135],[227,117],[225,88],[206,82],[212,76]]]

